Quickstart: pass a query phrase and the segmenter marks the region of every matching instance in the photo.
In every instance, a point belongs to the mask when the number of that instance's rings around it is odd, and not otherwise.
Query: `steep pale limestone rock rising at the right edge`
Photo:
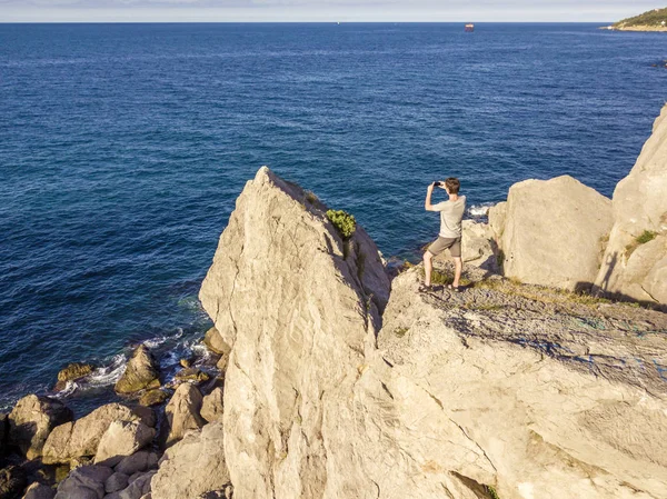
[[[616,186],[614,228],[596,286],[667,305],[667,106],[630,173]]]

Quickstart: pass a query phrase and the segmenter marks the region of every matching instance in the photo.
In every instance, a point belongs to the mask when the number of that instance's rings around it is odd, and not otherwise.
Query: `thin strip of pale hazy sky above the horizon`
[[[643,0],[0,0],[21,21],[590,21],[664,7]]]

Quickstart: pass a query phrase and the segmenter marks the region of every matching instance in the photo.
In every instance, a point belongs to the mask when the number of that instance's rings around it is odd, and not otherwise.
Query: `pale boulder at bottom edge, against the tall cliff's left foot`
[[[158,473],[152,478],[152,498],[197,498],[212,490],[223,490],[230,482],[223,439],[221,422],[207,425],[200,431],[189,431],[166,451]]]

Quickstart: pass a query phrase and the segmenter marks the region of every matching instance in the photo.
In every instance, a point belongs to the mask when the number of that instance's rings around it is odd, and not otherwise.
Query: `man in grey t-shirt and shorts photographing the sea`
[[[437,204],[431,204],[430,198],[434,192],[434,187],[445,189],[449,194],[448,201],[442,201]],[[440,233],[438,239],[431,242],[424,253],[424,286],[420,291],[430,291],[431,288],[431,271],[432,258],[440,255],[446,249],[449,249],[454,258],[455,272],[454,282],[448,286],[452,291],[458,291],[459,279],[464,263],[461,261],[461,219],[466,211],[466,197],[459,196],[458,191],[461,182],[457,178],[449,177],[445,182],[434,182],[426,190],[426,201],[424,208],[426,211],[440,212]]]

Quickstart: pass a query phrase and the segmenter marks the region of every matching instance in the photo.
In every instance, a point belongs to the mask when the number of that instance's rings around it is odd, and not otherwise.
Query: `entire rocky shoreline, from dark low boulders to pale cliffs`
[[[263,167],[201,286],[215,372],[139,346],[119,402],[22,398],[0,499],[663,498],[666,194],[667,107],[613,200],[519,182],[465,222],[464,291],[444,257],[420,293]]]

